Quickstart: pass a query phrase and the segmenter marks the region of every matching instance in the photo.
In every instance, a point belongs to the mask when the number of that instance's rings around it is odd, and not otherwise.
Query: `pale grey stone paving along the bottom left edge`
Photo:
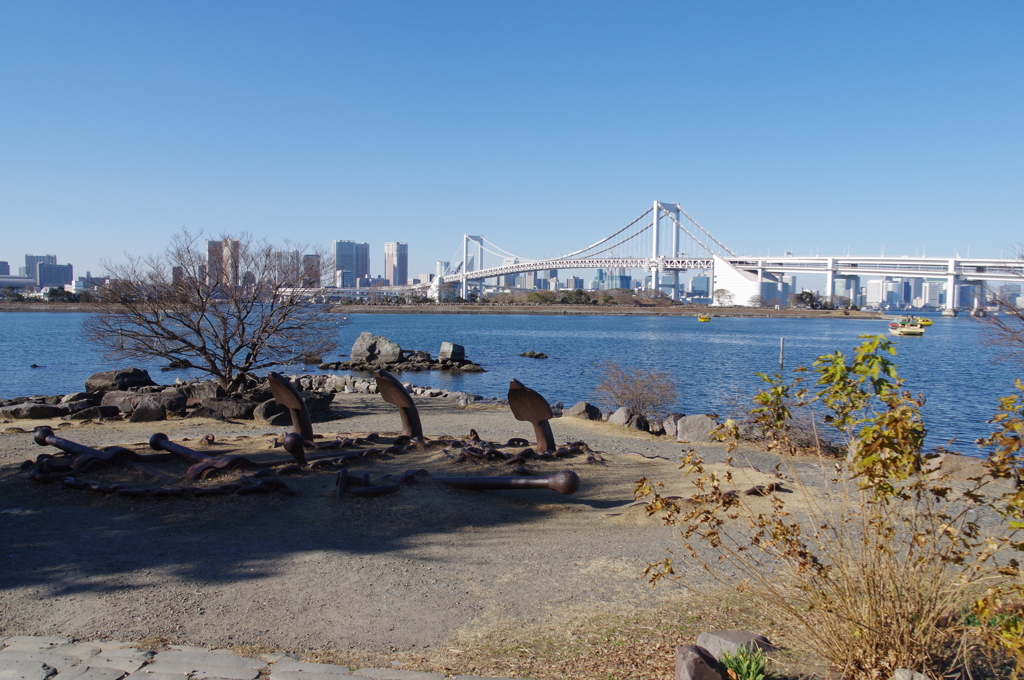
[[[227,649],[170,645],[142,651],[127,642],[0,637],[0,680],[511,680],[390,668],[307,664],[285,654],[238,656]]]

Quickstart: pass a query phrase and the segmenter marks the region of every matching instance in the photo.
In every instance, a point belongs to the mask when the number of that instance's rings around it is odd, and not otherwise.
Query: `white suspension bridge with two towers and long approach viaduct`
[[[679,299],[679,274],[708,271],[712,290],[729,291],[743,304],[754,296],[778,297],[782,277],[799,272],[823,274],[825,295],[834,296],[837,284],[844,291],[856,288],[864,275],[903,279],[941,279],[946,282],[945,306],[959,306],[962,284],[1024,280],[1024,261],[938,257],[748,257],[738,256],[701,226],[678,203],[654,201],[626,226],[574,252],[554,258],[531,259],[514,255],[483,236],[464,235],[459,250],[434,286],[456,284],[463,298],[487,280],[496,287],[509,286],[516,275],[559,269],[641,269],[651,274],[653,286]],[[784,297],[782,298],[784,299]]]

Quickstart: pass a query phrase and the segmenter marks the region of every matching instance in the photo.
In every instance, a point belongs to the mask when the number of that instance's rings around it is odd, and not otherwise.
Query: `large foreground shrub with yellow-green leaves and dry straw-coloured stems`
[[[987,474],[951,484],[940,454],[923,450],[923,399],[903,389],[893,354],[884,338],[868,338],[852,360],[841,352],[819,357],[812,387],[800,377],[763,377],[769,388],[755,411],[773,445],[795,448],[794,403],[823,406],[824,420],[846,439],[846,461],[821,459],[820,480],[802,478],[783,459],[806,510],[777,495],[766,504],[723,492],[693,453],[683,463],[706,502],[664,498],[646,479],[637,498],[681,527],[690,557],[713,577],[786,612],[804,643],[844,678],[888,678],[899,668],[930,677],[970,672],[984,661],[984,643],[1014,655],[1020,671],[1024,589],[1013,555],[1024,548],[1024,492],[993,482],[1020,467],[1024,400],[1008,397],[993,419],[997,431],[982,442],[991,448]],[[735,576],[713,568],[691,541]],[[645,572],[654,584],[674,578],[672,558]]]

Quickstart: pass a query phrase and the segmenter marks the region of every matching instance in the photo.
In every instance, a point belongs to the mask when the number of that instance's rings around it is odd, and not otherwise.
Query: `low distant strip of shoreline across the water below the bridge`
[[[98,313],[99,305],[81,302],[5,302],[2,312],[78,312]],[[339,314],[490,314],[534,316],[696,316],[708,313],[718,317],[741,318],[850,318],[878,321],[883,312],[842,309],[756,309],[753,307],[614,307],[604,305],[508,305],[508,304],[423,304],[423,305],[334,305]]]

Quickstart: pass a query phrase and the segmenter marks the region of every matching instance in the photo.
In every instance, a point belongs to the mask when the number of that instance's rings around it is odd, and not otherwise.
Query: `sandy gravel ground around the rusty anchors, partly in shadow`
[[[417,401],[428,437],[475,428],[504,445],[532,435],[505,407]],[[336,418],[314,424],[331,438],[393,434],[399,426],[397,413],[377,395],[339,395],[334,408]],[[337,499],[337,469],[321,468],[282,477],[294,496],[132,499],[29,479],[23,461],[57,453],[32,441],[38,424],[0,426],[0,635],[429,653],[496,630],[556,629],[680,597],[678,588],[652,589],[642,575],[645,564],[679,547],[678,535],[632,505],[640,477],[665,482],[669,494],[693,493],[679,469],[683,445],[669,437],[553,420],[557,440],[604,452],[603,463],[587,464],[584,456],[530,463],[540,474],[578,472],[582,485],[571,496],[461,491],[424,478],[390,496]],[[264,436],[282,431],[252,422],[84,423],[58,434],[97,448],[141,450],[156,431],[197,448],[213,433],[237,453],[284,455],[269,451]],[[724,469],[724,447],[707,444],[700,453]],[[766,454],[733,456],[736,465],[762,471],[777,463]],[[161,469],[183,476],[185,467]],[[455,463],[440,447],[348,466],[375,479],[411,468],[435,476],[508,473],[499,463]],[[123,470],[83,478],[159,485]],[[736,469],[733,485],[772,480]],[[697,591],[710,584],[698,569],[684,576]]]

